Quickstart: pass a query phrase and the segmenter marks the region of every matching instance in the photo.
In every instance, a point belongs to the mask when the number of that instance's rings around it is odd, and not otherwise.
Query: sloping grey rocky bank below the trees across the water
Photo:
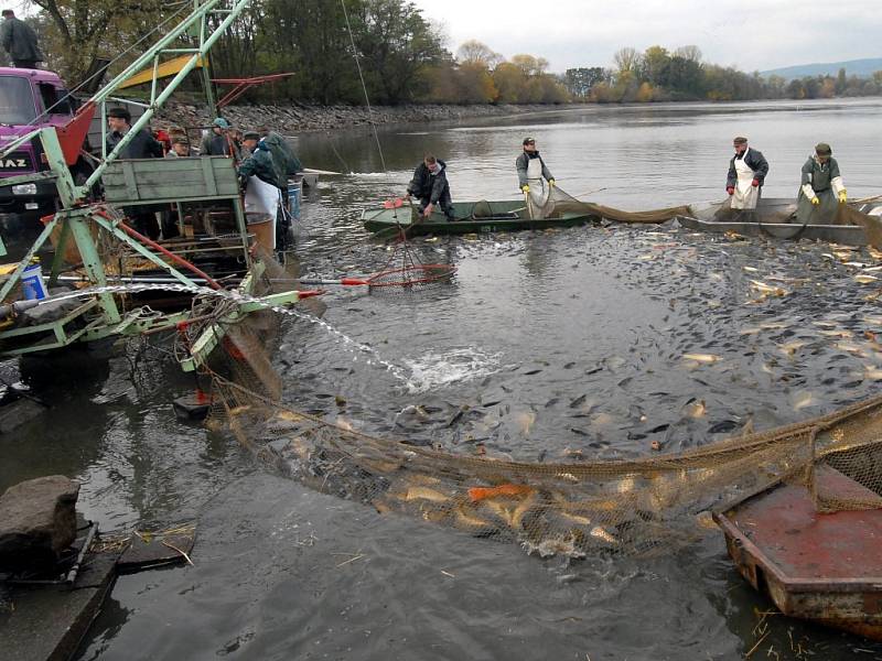
[[[228,106],[224,117],[243,129],[266,124],[280,133],[327,131],[377,124],[450,121],[467,117],[503,117],[561,108],[562,106],[373,106],[370,113],[363,106],[306,106],[302,104]],[[168,104],[158,115],[154,127],[204,127],[214,117],[206,106],[183,102]]]

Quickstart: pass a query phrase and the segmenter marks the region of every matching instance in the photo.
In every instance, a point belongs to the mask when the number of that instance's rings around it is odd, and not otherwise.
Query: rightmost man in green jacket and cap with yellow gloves
[[[831,225],[838,206],[848,199],[839,163],[831,154],[830,145],[820,142],[815,145],[815,155],[803,165],[796,207],[796,220],[803,225]]]

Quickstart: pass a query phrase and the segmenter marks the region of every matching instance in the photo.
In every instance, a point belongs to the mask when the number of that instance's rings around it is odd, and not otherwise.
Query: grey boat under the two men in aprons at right
[[[858,218],[880,223],[882,202],[849,203]],[[677,216],[681,227],[712,234],[735,232],[746,237],[809,239],[845,246],[872,245],[863,225],[804,225],[796,221],[796,202],[789,198],[760,199],[754,210],[731,209],[727,203],[690,205],[690,216]],[[872,218],[875,216],[875,218]]]

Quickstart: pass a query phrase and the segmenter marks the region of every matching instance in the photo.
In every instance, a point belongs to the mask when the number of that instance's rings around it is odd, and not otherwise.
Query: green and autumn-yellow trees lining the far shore
[[[94,57],[121,68],[181,20],[189,0],[32,0],[49,66],[82,80]],[[216,21],[223,20],[217,15]],[[356,67],[357,55],[361,71]],[[452,53],[439,28],[407,0],[254,0],[209,56],[218,78],[293,72],[254,101],[562,104],[828,98],[882,94],[872,78],[767,79],[702,61],[697,46],[617,51],[612,67],[549,73],[544,57],[505,58],[477,41]]]

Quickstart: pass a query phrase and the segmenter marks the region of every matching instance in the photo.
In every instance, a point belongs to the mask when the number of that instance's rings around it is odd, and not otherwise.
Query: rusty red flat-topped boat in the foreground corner
[[[841,499],[879,500],[829,465],[816,485]],[[785,615],[882,640],[882,509],[819,513],[802,485],[776,485],[714,520],[739,572]]]

